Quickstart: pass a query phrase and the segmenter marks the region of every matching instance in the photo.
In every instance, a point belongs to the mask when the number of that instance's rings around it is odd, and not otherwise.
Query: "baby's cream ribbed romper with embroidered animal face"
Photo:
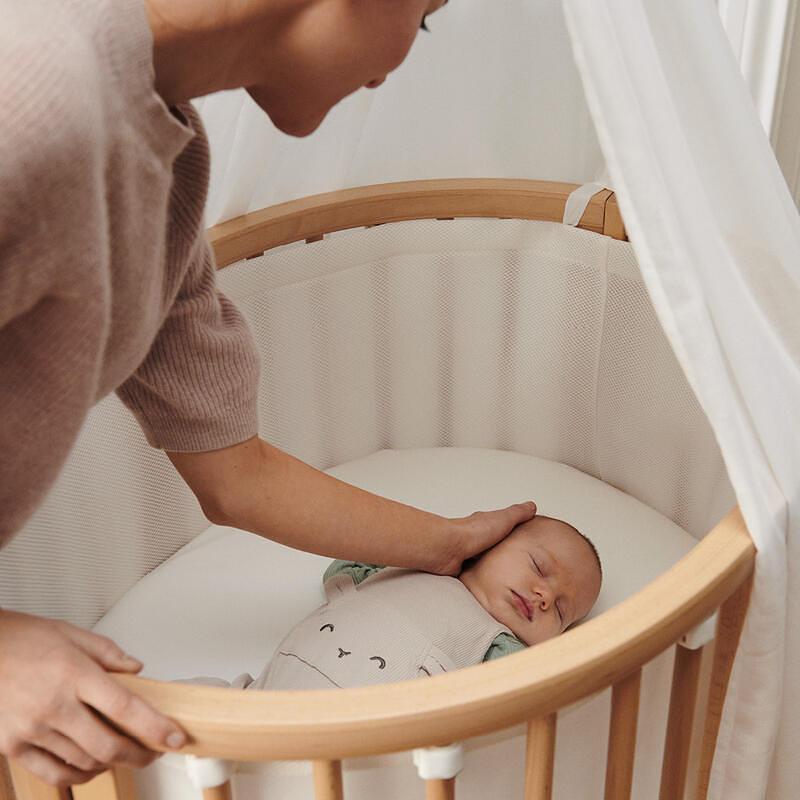
[[[356,584],[339,572],[325,581],[325,594],[325,605],[287,634],[261,674],[234,685],[391,683],[478,664],[498,636],[513,639],[456,578],[386,568]]]

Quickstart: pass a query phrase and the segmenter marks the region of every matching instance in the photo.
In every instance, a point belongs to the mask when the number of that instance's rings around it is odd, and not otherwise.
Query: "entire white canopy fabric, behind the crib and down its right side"
[[[385,86],[340,104],[309,139],[276,132],[242,93],[203,100],[207,221],[392,180],[585,183],[605,155],[653,303],[759,549],[710,797],[793,797],[800,221],[717,9],[459,0],[429,25]]]

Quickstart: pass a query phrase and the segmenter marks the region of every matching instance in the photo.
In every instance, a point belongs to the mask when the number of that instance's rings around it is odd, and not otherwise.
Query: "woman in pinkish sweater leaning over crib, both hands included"
[[[259,439],[257,356],[204,238],[207,142],[186,101],[246,87],[307,135],[444,2],[0,0],[0,542],[112,390],[210,520],[292,547],[453,575],[535,514],[444,519]],[[180,747],[108,675],[140,668],[104,637],[0,611],[0,752],[66,785],[149,763],[139,739]]]

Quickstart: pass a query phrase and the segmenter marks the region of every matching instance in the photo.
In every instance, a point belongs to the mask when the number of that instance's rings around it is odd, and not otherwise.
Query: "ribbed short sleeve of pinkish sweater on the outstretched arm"
[[[167,261],[183,277],[145,360],[117,394],[151,445],[199,452],[258,432],[259,359],[247,323],[216,286],[203,227],[208,142],[194,109],[179,113],[197,132],[176,160],[169,209]]]

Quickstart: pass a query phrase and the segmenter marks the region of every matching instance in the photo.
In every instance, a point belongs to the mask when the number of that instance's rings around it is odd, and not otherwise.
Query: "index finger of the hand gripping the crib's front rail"
[[[141,742],[171,750],[186,743],[186,734],[175,722],[159,714],[105,672],[87,670],[81,676],[77,693],[86,705]],[[92,752],[92,755],[96,754]]]

